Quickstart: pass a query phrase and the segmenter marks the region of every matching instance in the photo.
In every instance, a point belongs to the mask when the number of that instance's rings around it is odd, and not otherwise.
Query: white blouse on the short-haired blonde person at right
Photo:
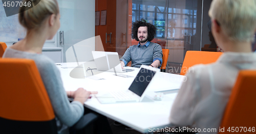
[[[232,87],[243,69],[256,69],[256,53],[224,52],[216,63],[189,68],[187,81],[172,106],[170,122],[200,128],[200,133],[216,128],[210,133],[218,133]]]

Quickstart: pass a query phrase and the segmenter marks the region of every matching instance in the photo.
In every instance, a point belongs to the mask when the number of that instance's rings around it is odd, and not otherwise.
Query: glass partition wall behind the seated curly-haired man
[[[98,4],[99,1],[97,0]],[[109,8],[113,4],[108,5],[108,1],[106,5]],[[186,51],[201,50],[203,0],[114,1],[116,7],[110,9],[116,8],[116,35],[111,37],[111,40],[115,40],[115,45],[112,44],[115,48],[106,51],[117,51],[121,57],[129,46],[137,45],[138,41],[131,37],[131,29],[132,23],[141,18],[157,28],[152,42],[160,44],[162,49],[170,50],[166,72],[180,73]],[[106,27],[110,24],[108,8]],[[108,48],[108,44],[104,48]]]

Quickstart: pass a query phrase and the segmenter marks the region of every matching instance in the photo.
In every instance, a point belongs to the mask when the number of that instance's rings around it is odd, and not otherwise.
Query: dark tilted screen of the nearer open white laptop
[[[141,96],[155,74],[155,71],[141,68],[129,90]]]

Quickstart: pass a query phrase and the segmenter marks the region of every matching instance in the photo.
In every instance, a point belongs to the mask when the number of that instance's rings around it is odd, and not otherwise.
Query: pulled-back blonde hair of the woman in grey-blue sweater
[[[25,0],[25,2],[31,2],[31,0]],[[19,23],[22,24],[27,30],[40,28],[42,22],[52,15],[58,14],[59,8],[56,0],[32,0],[32,3],[36,4],[33,8],[28,6],[20,7],[19,9]],[[31,3],[31,5],[32,5]]]

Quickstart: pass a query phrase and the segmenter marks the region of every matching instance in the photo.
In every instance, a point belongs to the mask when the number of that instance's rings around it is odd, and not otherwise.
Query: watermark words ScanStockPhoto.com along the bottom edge
[[[148,132],[217,132],[216,128],[189,128],[189,127],[164,127],[152,128],[148,127]]]

